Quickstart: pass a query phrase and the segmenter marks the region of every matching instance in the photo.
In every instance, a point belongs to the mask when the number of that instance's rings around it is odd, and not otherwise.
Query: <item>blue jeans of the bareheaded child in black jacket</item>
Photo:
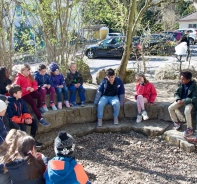
[[[85,98],[85,89],[83,88],[83,86],[79,86],[79,88],[76,88],[75,86],[70,86],[69,88],[70,91],[70,102],[75,102],[76,99],[76,92],[78,91],[79,93],[79,98],[81,100],[81,102],[84,102],[86,100]]]

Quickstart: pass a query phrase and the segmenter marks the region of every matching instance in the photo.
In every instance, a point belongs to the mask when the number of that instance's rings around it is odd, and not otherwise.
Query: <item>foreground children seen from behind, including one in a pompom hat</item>
[[[0,184],[91,184],[74,156],[74,139],[60,131],[55,157],[49,160],[36,151],[33,137],[11,129],[0,146]]]

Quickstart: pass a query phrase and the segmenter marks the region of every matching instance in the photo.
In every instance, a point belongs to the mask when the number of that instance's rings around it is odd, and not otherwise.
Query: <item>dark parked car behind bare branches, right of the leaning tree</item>
[[[147,54],[171,55],[175,51],[176,38],[164,34],[143,35],[140,38],[142,52]]]

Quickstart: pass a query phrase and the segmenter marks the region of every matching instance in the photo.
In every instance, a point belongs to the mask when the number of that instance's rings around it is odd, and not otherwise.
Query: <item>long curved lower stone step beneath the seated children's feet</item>
[[[148,120],[142,123],[135,123],[133,120],[121,119],[118,125],[114,125],[113,121],[104,121],[102,127],[96,127],[96,122],[94,123],[75,123],[75,124],[65,124],[60,128],[53,129],[50,132],[45,132],[37,135],[37,140],[43,143],[42,149],[53,144],[57,133],[60,130],[66,130],[73,136],[85,136],[91,133],[128,133],[130,131],[136,131],[138,133],[143,133],[147,136],[162,135],[163,132],[169,127],[168,122],[159,120]]]

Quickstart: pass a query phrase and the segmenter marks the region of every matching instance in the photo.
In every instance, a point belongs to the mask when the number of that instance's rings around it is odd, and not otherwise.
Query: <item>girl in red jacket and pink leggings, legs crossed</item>
[[[147,112],[145,111],[144,104],[150,103],[152,105],[155,101],[155,98],[157,96],[157,91],[152,83],[150,83],[144,74],[136,74],[136,102],[137,102],[137,109],[138,109],[138,115],[136,119],[136,123],[140,123],[142,121],[142,118],[144,120],[149,119]]]

